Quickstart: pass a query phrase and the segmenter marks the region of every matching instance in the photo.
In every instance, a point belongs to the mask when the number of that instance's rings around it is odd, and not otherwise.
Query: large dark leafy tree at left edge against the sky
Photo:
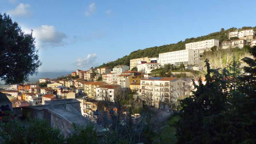
[[[25,34],[17,22],[0,13],[0,78],[5,84],[24,83],[41,66],[35,38]]]

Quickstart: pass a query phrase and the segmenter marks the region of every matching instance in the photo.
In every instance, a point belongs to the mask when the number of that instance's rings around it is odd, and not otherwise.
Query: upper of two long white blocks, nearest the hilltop
[[[204,40],[199,42],[188,43],[188,44],[185,44],[185,46],[186,46],[186,50],[188,49],[205,50],[205,49],[210,49],[213,46],[219,47],[219,43],[220,43],[220,40],[218,39],[209,39],[209,40]]]

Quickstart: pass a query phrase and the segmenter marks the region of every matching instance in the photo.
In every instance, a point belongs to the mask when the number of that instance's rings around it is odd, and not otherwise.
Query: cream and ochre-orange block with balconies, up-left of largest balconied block
[[[140,83],[143,78],[142,72],[126,71],[118,75],[117,84],[123,88],[130,88],[131,83]]]

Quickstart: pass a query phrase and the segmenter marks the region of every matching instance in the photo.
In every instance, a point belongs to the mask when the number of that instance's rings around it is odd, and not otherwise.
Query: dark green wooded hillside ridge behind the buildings
[[[242,27],[238,28],[238,30],[243,30],[243,29],[249,29],[253,28],[254,31],[256,31],[256,26],[255,27]],[[185,44],[191,43],[191,42],[197,42],[197,41],[203,41],[207,39],[219,39],[220,42],[228,40],[228,32],[229,31],[234,31],[237,30],[237,28],[229,28],[224,30],[224,28],[221,28],[219,32],[214,32],[206,36],[198,36],[196,38],[191,37],[185,39],[185,41],[180,41],[176,44],[166,44],[162,46],[155,46],[155,47],[150,47],[146,48],[143,50],[137,50],[131,52],[128,56],[124,56],[123,58],[119,58],[115,61],[112,61],[107,64],[102,64],[99,66],[101,67],[111,67],[113,68],[116,65],[130,65],[130,59],[135,59],[135,58],[140,58],[140,57],[158,57],[159,53],[164,53],[164,52],[173,52],[173,51],[178,51],[178,50],[184,50],[185,49]]]

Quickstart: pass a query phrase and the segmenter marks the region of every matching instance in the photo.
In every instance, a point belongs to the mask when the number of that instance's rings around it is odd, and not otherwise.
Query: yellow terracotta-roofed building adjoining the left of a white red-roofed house
[[[96,98],[96,87],[104,85],[103,82],[87,82],[84,84],[84,92],[89,98]]]

